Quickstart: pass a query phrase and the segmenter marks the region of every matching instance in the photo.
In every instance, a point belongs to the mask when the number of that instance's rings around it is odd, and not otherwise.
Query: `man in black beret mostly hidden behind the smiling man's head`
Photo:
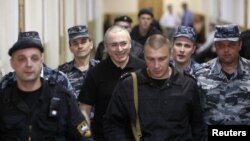
[[[114,25],[125,28],[129,33],[132,30],[132,22],[133,22],[133,20],[127,15],[118,16],[114,19]],[[143,46],[139,42],[136,42],[135,40],[131,40],[130,53],[134,56],[139,57],[140,59],[144,59]],[[104,44],[102,41],[98,44],[97,51],[95,54],[95,59],[102,61],[102,60],[106,59],[107,56],[108,56],[108,54],[104,50]]]

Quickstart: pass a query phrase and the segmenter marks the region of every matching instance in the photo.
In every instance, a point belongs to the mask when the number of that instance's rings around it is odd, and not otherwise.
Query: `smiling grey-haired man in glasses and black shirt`
[[[130,55],[130,35],[120,26],[112,26],[104,36],[109,57],[89,70],[78,100],[80,109],[90,117],[94,107],[91,129],[95,141],[106,141],[103,131],[103,115],[112,92],[121,75],[145,66],[144,61]],[[115,141],[115,140],[113,140]]]

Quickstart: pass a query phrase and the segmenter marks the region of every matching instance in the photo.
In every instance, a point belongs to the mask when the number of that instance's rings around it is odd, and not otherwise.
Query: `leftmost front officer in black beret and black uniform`
[[[38,32],[22,32],[10,48],[16,81],[0,91],[1,141],[92,140],[76,100],[40,77],[44,49]]]

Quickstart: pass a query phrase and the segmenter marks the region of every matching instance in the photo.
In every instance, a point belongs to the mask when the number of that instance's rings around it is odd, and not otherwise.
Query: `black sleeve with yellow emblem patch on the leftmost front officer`
[[[91,131],[85,117],[78,108],[78,104],[73,96],[67,99],[69,109],[68,134],[72,141],[92,141]]]

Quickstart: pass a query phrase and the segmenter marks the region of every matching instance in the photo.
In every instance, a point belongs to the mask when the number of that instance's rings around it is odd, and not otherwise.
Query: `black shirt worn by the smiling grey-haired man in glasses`
[[[78,100],[95,107],[95,115],[91,124],[94,138],[97,136],[103,138],[103,115],[121,75],[144,67],[144,61],[130,56],[127,65],[121,69],[108,57],[89,70]]]

